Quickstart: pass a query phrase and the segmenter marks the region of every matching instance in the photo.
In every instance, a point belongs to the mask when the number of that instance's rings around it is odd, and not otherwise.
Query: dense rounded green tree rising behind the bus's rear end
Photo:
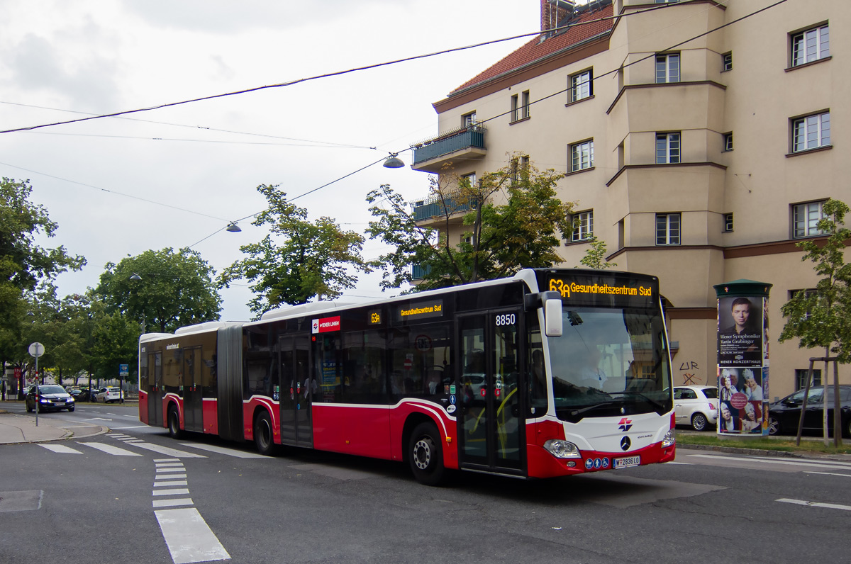
[[[129,316],[145,331],[171,333],[219,319],[215,271],[197,251],[148,250],[108,263],[105,269],[95,292],[106,303],[107,313]]]

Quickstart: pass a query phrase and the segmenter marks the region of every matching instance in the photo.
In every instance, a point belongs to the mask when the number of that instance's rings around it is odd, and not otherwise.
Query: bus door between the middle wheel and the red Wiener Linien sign
[[[281,354],[281,443],[312,447],[310,341],[307,336],[284,336]]]

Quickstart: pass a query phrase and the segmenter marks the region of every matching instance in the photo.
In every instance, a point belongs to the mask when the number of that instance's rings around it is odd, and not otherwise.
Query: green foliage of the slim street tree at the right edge
[[[821,276],[815,291],[800,291],[780,308],[786,318],[780,342],[800,339],[802,348],[824,347],[838,362],[851,362],[851,264],[845,262],[844,249],[851,230],[844,227],[848,206],[828,200],[823,206],[818,228],[826,240],[797,243],[802,260],[814,263]]]

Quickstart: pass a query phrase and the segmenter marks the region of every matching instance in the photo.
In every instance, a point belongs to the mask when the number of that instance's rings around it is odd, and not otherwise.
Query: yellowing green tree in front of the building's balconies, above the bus
[[[368,194],[374,219],[367,233],[391,246],[370,263],[384,271],[382,288],[412,282],[411,266],[425,273],[415,288],[425,290],[511,276],[523,268],[562,261],[556,252],[572,230],[573,203],[561,202],[556,185],[563,174],[529,164],[509,166],[482,179],[441,174],[431,180],[430,201],[439,228],[418,225],[413,210],[389,185]],[[496,203],[496,201],[504,203]],[[460,242],[457,236],[461,216]]]

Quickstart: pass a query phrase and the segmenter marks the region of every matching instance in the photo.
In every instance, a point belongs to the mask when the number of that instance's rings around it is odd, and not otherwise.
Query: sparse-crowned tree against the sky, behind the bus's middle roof
[[[351,271],[369,271],[361,257],[363,236],[343,231],[328,217],[311,222],[307,210],[288,202],[277,185],[260,185],[257,191],[269,206],[253,225],[268,225],[271,232],[240,247],[248,257],[228,266],[219,278],[222,286],[241,278],[253,282],[257,297],[248,307],[255,314],[314,297],[336,298],[355,287],[357,276]]]

